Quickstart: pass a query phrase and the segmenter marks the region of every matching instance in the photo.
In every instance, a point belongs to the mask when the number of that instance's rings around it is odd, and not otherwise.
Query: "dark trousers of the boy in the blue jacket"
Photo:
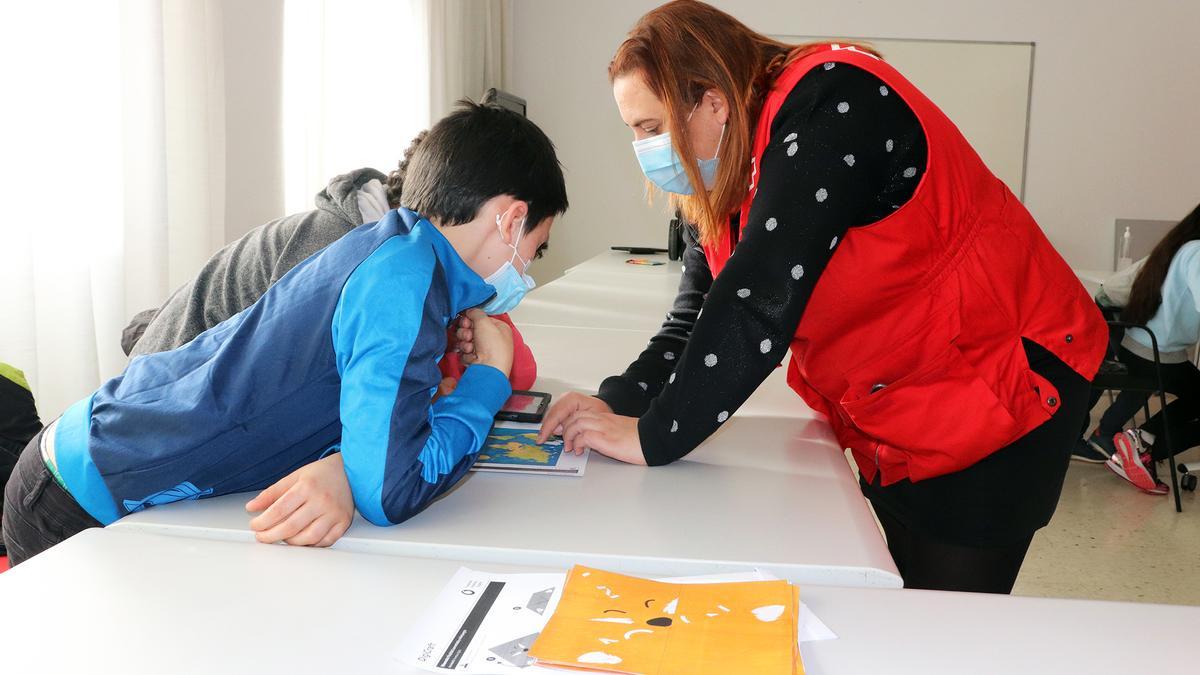
[[[4,542],[20,565],[89,527],[102,525],[54,482],[42,461],[42,434],[25,446],[4,491]]]

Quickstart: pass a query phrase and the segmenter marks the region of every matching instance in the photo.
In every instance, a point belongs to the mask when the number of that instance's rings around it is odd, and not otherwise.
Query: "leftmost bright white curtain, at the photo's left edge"
[[[53,418],[125,366],[130,315],[220,243],[220,7],[6,6],[0,360]]]

